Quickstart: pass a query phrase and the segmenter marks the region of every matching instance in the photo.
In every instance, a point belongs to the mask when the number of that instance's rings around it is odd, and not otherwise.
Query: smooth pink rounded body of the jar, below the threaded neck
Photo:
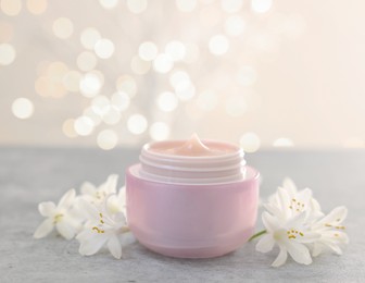
[[[126,172],[127,218],[147,248],[179,258],[230,253],[252,235],[257,216],[259,172],[227,183],[168,183],[146,179],[141,164]]]

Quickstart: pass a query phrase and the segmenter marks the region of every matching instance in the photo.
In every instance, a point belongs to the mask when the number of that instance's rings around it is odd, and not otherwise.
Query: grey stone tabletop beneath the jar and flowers
[[[262,198],[290,176],[311,187],[325,211],[348,206],[344,255],[322,255],[311,266],[289,259],[275,269],[277,250],[260,254],[254,243],[199,260],[163,257],[134,243],[121,260],[108,253],[81,257],[76,241],[32,237],[41,221],[37,204],[56,201],[86,180],[100,184],[110,173],[122,184],[138,150],[0,148],[0,282],[365,282],[365,151],[262,151],[247,159],[262,172]]]

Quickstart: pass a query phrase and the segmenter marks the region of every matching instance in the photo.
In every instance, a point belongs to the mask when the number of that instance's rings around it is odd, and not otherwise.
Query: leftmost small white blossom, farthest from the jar
[[[38,210],[47,219],[34,233],[35,238],[41,238],[52,232],[53,227],[66,239],[71,239],[77,233],[80,221],[73,211],[75,204],[75,189],[70,189],[63,195],[58,206],[52,201],[41,202]]]

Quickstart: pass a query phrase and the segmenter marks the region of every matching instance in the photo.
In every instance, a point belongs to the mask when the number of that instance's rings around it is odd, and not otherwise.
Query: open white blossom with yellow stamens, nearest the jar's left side
[[[96,254],[105,244],[110,253],[117,259],[122,257],[122,246],[118,235],[129,231],[123,212],[113,213],[109,209],[112,196],[104,199],[101,205],[81,200],[81,206],[89,218],[76,239],[79,241],[79,253],[84,256]]]

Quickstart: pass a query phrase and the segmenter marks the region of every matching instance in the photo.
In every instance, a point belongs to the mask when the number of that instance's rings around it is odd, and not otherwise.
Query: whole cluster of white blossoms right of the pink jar
[[[347,209],[339,207],[324,217],[312,195],[310,188],[298,190],[294,183],[286,179],[282,187],[264,205],[267,210],[262,214],[265,231],[252,238],[264,234],[256,244],[261,253],[272,250],[275,245],[279,247],[273,267],[284,264],[288,254],[294,261],[310,264],[311,253],[315,257],[330,249],[340,255],[341,247],[349,243],[342,225]]]

